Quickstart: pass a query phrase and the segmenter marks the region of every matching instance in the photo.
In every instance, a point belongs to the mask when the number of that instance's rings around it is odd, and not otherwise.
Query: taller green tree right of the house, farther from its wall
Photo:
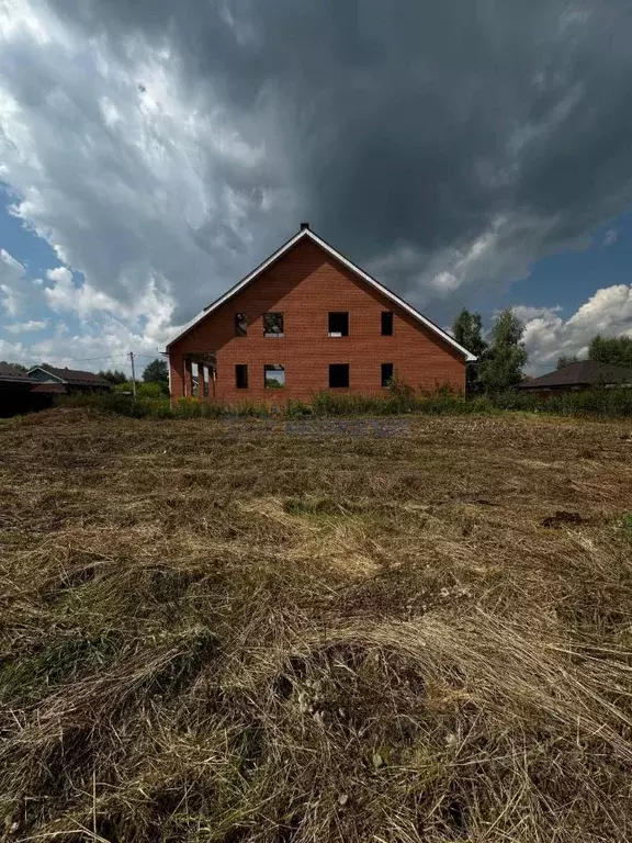
[[[485,392],[505,392],[522,380],[522,367],[528,355],[522,342],[524,325],[508,307],[492,328],[492,342],[481,364],[481,381]]]

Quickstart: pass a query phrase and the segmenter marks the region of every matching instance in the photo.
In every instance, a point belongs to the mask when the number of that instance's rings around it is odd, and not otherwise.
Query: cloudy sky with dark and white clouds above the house
[[[631,43],[625,0],[0,0],[0,359],[154,356],[302,220],[441,325],[516,306],[532,370],[632,336]]]

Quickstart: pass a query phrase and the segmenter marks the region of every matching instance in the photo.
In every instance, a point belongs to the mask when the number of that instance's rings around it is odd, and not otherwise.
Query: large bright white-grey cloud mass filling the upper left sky
[[[244,120],[188,85],[166,41],[86,38],[46,3],[4,4],[0,178],[13,213],[81,273],[49,276],[50,306],[75,296],[81,316],[136,317],[159,300],[183,322],[258,262],[292,205],[269,108]]]

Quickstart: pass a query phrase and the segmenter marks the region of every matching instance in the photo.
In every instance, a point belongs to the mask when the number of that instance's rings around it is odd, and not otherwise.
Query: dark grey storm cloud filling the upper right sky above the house
[[[135,40],[167,47],[190,94],[218,99],[268,153],[278,144],[294,200],[257,239],[259,254],[216,218],[194,233],[201,252],[222,243],[222,278],[291,234],[300,207],[414,300],[458,291],[462,301],[524,274],[630,200],[632,15],[622,0],[50,5],[122,61]],[[257,206],[253,173],[222,166],[215,183]],[[257,178],[279,184],[272,170]]]

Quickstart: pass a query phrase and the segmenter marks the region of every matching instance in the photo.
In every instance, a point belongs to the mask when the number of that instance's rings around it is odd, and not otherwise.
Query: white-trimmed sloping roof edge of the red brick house
[[[250,272],[248,276],[242,278],[241,281],[239,281],[229,290],[227,290],[224,293],[224,295],[221,295],[219,299],[216,299],[212,304],[210,304],[201,313],[199,313],[198,316],[191,319],[191,322],[184,326],[184,328],[180,331],[180,334],[174,339],[172,339],[171,342],[167,344],[167,348],[169,348],[176,341],[178,341],[181,337],[183,337],[184,334],[188,334],[191,330],[191,328],[193,328],[205,316],[208,316],[211,313],[213,313],[223,304],[225,304],[229,299],[233,299],[234,295],[236,295],[241,290],[244,290],[244,288],[252,283],[252,281],[255,281],[264,270],[271,267],[272,263],[279,260],[279,258],[285,255],[285,252],[290,251],[290,249],[292,249],[294,246],[296,246],[296,244],[301,243],[301,240],[303,239],[309,239],[316,245],[320,246],[320,248],[324,249],[328,255],[330,255],[332,258],[335,258],[345,267],[347,267],[347,269],[350,269],[351,272],[353,272],[356,276],[358,276],[363,281],[365,281],[371,288],[373,288],[374,290],[377,290],[377,292],[382,293],[382,295],[384,295],[386,299],[390,299],[398,307],[402,307],[402,310],[406,311],[406,313],[408,313],[408,315],[417,319],[417,322],[420,322],[422,325],[429,328],[433,334],[441,337],[441,339],[444,342],[448,342],[448,345],[452,346],[452,348],[455,348],[458,351],[460,351],[465,357],[466,360],[469,361],[476,360],[476,357],[470,351],[467,351],[466,348],[464,348],[459,342],[456,342],[454,337],[450,336],[450,334],[448,334],[438,325],[436,325],[433,322],[431,322],[427,316],[424,316],[424,314],[415,310],[415,307],[408,304],[408,302],[405,302],[404,299],[400,299],[398,295],[396,295],[394,292],[392,292],[386,286],[381,284],[379,281],[375,281],[374,278],[371,278],[371,276],[364,272],[364,270],[360,269],[360,267],[356,266],[356,263],[352,263],[348,258],[346,258],[343,255],[337,251],[332,246],[326,243],[321,237],[318,237],[317,234],[314,234],[314,232],[307,226],[301,227],[301,231],[297,234],[295,234],[294,237],[291,237],[285,244],[283,244],[283,246],[276,249],[276,251],[270,255],[269,258],[267,258],[262,263],[260,263],[256,269],[253,269],[252,272]]]

